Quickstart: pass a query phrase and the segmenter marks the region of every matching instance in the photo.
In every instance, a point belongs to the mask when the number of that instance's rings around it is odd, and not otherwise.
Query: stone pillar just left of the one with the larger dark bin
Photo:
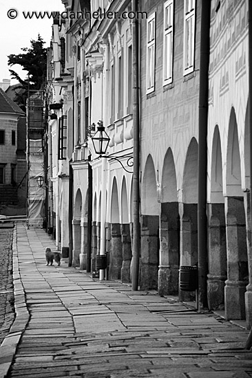
[[[160,296],[178,294],[179,232],[178,203],[161,203],[160,265],[158,267],[158,294]]]

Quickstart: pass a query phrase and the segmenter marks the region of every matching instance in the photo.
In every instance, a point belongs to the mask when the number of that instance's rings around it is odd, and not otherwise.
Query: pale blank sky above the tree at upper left
[[[22,53],[21,47],[30,47],[30,41],[36,40],[38,34],[45,41],[44,47],[50,46],[52,19],[25,19],[23,12],[27,15],[26,12],[32,11],[64,10],[61,0],[0,0],[0,82],[10,79],[9,68],[17,71],[21,78],[26,77],[26,72],[22,71],[21,67],[8,67],[8,55]],[[17,80],[11,80],[11,85],[16,83]]]

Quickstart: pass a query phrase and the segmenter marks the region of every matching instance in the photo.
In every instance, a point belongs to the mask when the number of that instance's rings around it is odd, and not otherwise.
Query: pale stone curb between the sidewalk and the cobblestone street
[[[14,225],[13,242],[12,242],[12,269],[14,285],[14,307],[16,317],[10,333],[5,337],[0,346],[0,377],[5,378],[17,351],[19,340],[30,320],[30,314],[25,301],[25,291],[19,273],[19,258],[17,253],[17,226]]]

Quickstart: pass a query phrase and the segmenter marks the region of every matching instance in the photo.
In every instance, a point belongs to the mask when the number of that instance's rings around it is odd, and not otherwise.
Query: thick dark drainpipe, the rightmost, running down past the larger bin
[[[201,5],[198,119],[198,310],[207,308],[207,115],[211,1]]]

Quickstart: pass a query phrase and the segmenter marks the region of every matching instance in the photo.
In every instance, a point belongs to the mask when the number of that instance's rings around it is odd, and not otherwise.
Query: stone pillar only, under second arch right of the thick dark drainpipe
[[[227,233],[227,281],[225,315],[245,319],[245,289],[248,284],[246,221],[243,197],[225,197]]]

